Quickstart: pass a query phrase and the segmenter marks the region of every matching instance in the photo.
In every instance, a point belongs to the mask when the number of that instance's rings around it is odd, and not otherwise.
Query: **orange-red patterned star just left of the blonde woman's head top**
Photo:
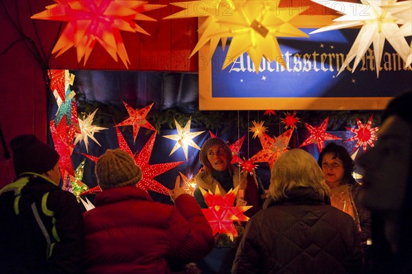
[[[283,134],[273,138],[268,136],[268,134],[262,134],[262,136],[259,137],[262,150],[253,155],[251,160],[253,160],[253,162],[267,162],[269,168],[272,169],[277,158],[288,150],[292,133],[293,130],[288,129]]]

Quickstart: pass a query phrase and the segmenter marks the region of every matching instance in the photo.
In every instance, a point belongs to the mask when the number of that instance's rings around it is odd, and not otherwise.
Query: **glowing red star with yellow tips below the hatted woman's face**
[[[205,203],[209,208],[202,208],[213,234],[227,234],[231,238],[237,236],[233,221],[249,221],[249,217],[243,213],[252,206],[233,206],[239,187],[234,190],[229,190],[227,194],[222,197],[218,186],[213,194],[210,190],[207,192],[203,188],[199,188],[205,198]]]

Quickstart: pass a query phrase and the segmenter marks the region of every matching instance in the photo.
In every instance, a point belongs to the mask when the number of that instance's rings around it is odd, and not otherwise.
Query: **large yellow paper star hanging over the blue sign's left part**
[[[227,38],[232,38],[222,69],[247,52],[258,73],[262,58],[269,62],[275,60],[286,67],[277,37],[308,37],[307,34],[289,23],[308,6],[302,6],[299,10],[283,9],[279,8],[280,2],[280,0],[177,2],[171,4],[185,10],[166,18],[207,16],[198,29],[202,34],[192,55],[210,42],[209,56],[206,56],[210,59],[220,40],[222,40],[222,46],[225,47]]]

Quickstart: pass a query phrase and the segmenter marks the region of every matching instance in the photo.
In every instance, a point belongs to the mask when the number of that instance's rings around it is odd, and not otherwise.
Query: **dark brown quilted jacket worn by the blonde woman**
[[[268,198],[249,220],[232,273],[361,273],[361,235],[352,217],[312,188],[287,195],[280,203]]]

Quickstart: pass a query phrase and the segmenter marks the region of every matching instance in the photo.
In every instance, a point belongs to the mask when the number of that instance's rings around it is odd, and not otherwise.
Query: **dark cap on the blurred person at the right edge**
[[[407,121],[409,125],[412,126],[412,92],[404,93],[400,95],[400,97],[396,97],[392,101],[389,102],[385,112],[382,115],[382,121],[380,124],[385,121],[391,115],[398,115],[404,121]]]

